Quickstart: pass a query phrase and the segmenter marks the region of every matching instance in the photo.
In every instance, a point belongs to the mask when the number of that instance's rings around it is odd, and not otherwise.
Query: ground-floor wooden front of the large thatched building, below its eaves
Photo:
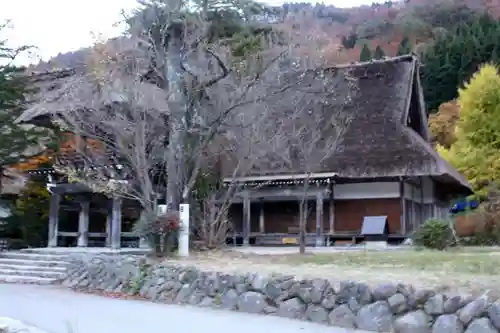
[[[365,217],[377,216],[386,219],[388,242],[398,244],[425,220],[446,210],[430,177],[333,177],[309,182],[306,191],[300,180],[244,184],[229,209],[233,230],[227,243],[296,245],[302,200],[307,209],[306,246],[361,242],[365,239],[361,234]]]

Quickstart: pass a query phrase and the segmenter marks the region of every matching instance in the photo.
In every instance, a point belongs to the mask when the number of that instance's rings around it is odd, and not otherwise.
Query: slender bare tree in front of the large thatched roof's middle
[[[277,138],[285,141],[273,152],[281,161],[281,170],[302,175],[299,245],[300,253],[305,253],[310,180],[314,173],[335,171],[329,169],[328,162],[350,124],[347,108],[357,92],[357,82],[349,67],[302,70],[290,74],[288,81],[293,88],[286,101],[277,104],[284,114],[272,118],[276,119],[276,131],[286,133]],[[316,236],[318,242],[321,235]]]

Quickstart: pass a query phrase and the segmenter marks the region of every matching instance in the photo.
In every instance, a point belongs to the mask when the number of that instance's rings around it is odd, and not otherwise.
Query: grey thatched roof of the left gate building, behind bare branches
[[[30,68],[26,75],[37,93],[28,96],[28,108],[17,122],[36,122],[68,110],[95,109],[132,99],[136,107],[165,108],[164,92],[138,79],[147,68],[144,55],[132,45],[130,39],[115,38]],[[135,66],[136,72],[129,73],[127,66]]]

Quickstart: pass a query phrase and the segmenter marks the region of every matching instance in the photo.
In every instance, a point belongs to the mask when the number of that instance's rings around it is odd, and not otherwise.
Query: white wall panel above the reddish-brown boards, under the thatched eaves
[[[335,199],[399,198],[399,183],[371,182],[335,184],[333,196]]]

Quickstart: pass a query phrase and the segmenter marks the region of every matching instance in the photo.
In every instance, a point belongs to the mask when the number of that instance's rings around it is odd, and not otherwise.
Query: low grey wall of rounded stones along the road
[[[150,265],[137,257],[73,258],[62,283],[76,290],[190,304],[394,333],[499,333],[500,302],[488,295],[292,276],[229,275]]]

